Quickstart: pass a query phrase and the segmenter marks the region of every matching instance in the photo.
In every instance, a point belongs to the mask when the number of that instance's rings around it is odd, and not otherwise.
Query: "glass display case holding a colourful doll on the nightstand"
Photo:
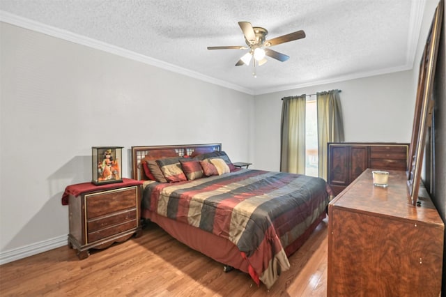
[[[123,146],[92,146],[91,167],[93,169],[92,183],[122,183]]]

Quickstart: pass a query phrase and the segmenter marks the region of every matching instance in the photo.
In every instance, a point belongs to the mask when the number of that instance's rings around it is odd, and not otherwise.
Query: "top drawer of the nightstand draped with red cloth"
[[[97,218],[101,215],[123,211],[137,206],[137,187],[108,190],[85,195],[86,218]]]

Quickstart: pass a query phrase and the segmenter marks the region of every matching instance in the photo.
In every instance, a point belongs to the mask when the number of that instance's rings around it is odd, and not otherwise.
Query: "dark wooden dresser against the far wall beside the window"
[[[408,148],[387,142],[330,142],[328,184],[338,195],[367,168],[406,171]]]

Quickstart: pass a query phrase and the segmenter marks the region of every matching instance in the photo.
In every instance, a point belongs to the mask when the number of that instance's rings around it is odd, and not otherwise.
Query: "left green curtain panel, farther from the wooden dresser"
[[[305,98],[282,98],[280,171],[305,174]]]

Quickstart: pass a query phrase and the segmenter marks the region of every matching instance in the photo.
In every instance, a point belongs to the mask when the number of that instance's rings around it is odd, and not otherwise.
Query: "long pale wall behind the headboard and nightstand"
[[[221,142],[249,161],[254,97],[0,22],[0,256],[66,244],[91,146]],[[47,245],[45,247],[45,245]],[[1,263],[2,257],[0,257]]]

